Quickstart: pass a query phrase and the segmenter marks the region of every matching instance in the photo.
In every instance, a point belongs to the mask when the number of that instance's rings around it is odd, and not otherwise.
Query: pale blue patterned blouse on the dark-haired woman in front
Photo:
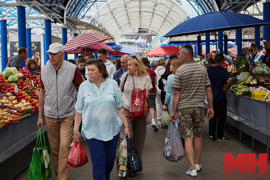
[[[82,82],[75,104],[82,115],[82,137],[112,140],[122,128],[118,109],[123,105],[121,90],[114,79],[106,78],[100,88],[89,80]]]

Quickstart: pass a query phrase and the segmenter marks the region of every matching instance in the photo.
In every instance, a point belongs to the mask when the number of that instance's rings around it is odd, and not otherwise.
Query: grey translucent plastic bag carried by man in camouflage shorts
[[[169,124],[167,135],[165,138],[165,146],[163,156],[171,162],[177,162],[186,156],[180,134],[172,121]]]

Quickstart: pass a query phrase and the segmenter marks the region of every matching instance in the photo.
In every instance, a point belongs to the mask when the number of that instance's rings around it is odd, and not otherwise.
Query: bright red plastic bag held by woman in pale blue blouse
[[[81,143],[77,143],[75,141],[67,158],[67,166],[70,168],[76,168],[81,167],[86,163],[88,163],[87,155],[82,148]]]

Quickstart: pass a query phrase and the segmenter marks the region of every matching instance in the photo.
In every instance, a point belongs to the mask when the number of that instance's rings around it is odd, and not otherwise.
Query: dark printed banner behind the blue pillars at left
[[[40,64],[41,44],[40,42],[31,42],[31,44],[32,44],[32,47],[31,47],[32,56],[33,55],[37,56],[39,58],[38,64]],[[14,55],[18,55],[18,50],[19,50],[19,43],[11,41],[10,42],[10,58]]]

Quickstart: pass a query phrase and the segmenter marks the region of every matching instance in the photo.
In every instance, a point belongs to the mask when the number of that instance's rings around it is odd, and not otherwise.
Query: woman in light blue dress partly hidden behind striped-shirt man
[[[171,115],[173,112],[173,80],[174,80],[174,76],[176,73],[176,70],[178,69],[178,67],[180,67],[182,65],[180,59],[174,59],[171,62],[170,65],[170,71],[173,72],[173,74],[170,74],[168,76],[167,79],[167,88],[166,88],[166,98],[165,98],[165,103],[162,107],[163,111],[167,111],[167,105],[169,107],[169,114]]]

